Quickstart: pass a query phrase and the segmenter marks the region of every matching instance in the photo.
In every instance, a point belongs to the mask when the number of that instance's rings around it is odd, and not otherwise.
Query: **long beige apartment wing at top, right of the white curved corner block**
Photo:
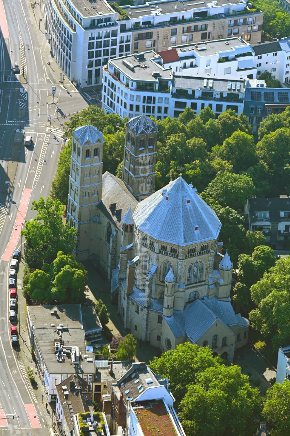
[[[120,21],[120,31],[132,30],[132,53],[232,36],[261,41],[263,13],[250,10],[244,0],[161,0],[123,9],[129,19]]]

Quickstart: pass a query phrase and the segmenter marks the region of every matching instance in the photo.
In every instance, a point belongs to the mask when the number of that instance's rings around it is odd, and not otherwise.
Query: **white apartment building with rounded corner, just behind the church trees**
[[[226,109],[238,114],[243,112],[243,96],[243,77],[176,73],[164,68],[154,51],[113,59],[103,68],[103,108],[122,118],[142,113],[173,118],[186,107],[199,114],[206,106],[216,116]]]

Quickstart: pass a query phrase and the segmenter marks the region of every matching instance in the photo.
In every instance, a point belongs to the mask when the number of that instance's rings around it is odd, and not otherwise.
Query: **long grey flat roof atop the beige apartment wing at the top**
[[[79,0],[81,1],[81,0]],[[219,7],[219,6],[223,6],[225,4],[224,0],[216,0],[215,2],[215,6]],[[231,0],[230,2],[227,3],[227,6],[230,4],[238,4],[240,3],[240,0]],[[125,9],[125,11],[127,12],[127,14],[129,12],[131,12],[130,14],[130,18],[138,18],[138,17],[146,17],[149,16],[153,19],[154,14],[152,14],[151,12],[156,10],[157,15],[164,15],[164,14],[176,14],[178,12],[183,12],[184,9],[186,8],[187,11],[189,10],[194,10],[194,9],[206,9],[206,8],[211,8],[212,9],[212,2],[208,1],[198,1],[196,3],[193,3],[192,1],[176,1],[176,0],[172,0],[172,1],[155,1],[155,2],[149,2],[143,5],[138,5],[138,6],[125,6],[123,7],[123,9]],[[176,9],[175,9],[176,6]],[[246,2],[245,2],[245,7],[246,7]],[[207,17],[210,18],[210,17]],[[205,17],[206,19],[206,17]]]

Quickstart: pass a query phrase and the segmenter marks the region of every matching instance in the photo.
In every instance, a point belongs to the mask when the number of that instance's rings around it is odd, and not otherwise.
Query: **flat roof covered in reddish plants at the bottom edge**
[[[132,404],[144,436],[176,436],[176,429],[163,400]]]

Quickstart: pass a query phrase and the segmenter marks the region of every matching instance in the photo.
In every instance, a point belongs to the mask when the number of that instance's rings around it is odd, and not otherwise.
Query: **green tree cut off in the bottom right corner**
[[[263,408],[263,417],[266,419],[272,436],[290,434],[290,383],[275,383],[266,392],[267,398]]]

